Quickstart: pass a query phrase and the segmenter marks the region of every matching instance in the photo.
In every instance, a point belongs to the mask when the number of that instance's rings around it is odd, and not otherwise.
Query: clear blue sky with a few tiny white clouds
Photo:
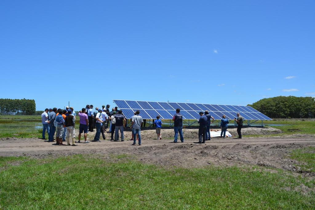
[[[315,97],[315,1],[1,1],[0,98]]]

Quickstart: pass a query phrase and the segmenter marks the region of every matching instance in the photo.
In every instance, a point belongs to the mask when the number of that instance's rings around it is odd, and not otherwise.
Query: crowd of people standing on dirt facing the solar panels
[[[112,141],[119,140],[124,141],[124,128],[126,127],[126,117],[123,115],[121,110],[118,110],[117,107],[112,108],[112,111],[109,111],[110,105],[103,105],[102,109],[98,107],[93,110],[93,105],[86,105],[86,108],[82,108],[79,111],[80,125],[79,125],[79,135],[78,135],[78,143],[81,141],[81,134],[84,136],[84,143],[89,143],[87,140],[87,133],[94,132],[96,129],[95,137],[92,141],[100,142],[100,134],[102,134],[103,139],[105,138],[105,130],[109,126],[109,133],[111,133]],[[199,112],[200,118],[198,120],[199,123],[199,132],[198,132],[198,143],[205,143],[206,140],[211,140],[210,136],[210,124],[214,122],[214,117],[209,114],[209,111],[201,111]],[[238,124],[237,132],[238,138],[242,138],[241,129],[243,126],[243,117],[237,113],[238,118],[234,118],[234,120]],[[76,146],[75,144],[75,120],[76,113],[73,111],[72,107],[66,107],[65,110],[62,109],[45,109],[42,114],[42,123],[43,123],[43,139],[45,139],[45,132],[48,133],[48,142],[53,142],[54,134],[56,132],[56,141],[57,145],[63,145],[63,141],[67,141],[67,145]],[[161,128],[162,121],[160,120],[160,116],[156,117],[157,119],[153,122],[156,127],[157,139],[162,139],[161,137]],[[212,120],[212,121],[211,121]],[[131,121],[131,131],[133,140],[132,145],[136,145],[136,140],[138,140],[138,144],[141,145],[141,134],[140,128],[142,127],[142,123],[144,120],[140,116],[140,111],[137,110],[134,113],[134,116],[130,118]],[[172,143],[177,143],[178,133],[180,135],[180,141],[184,142],[183,136],[183,116],[180,114],[180,109],[176,109],[176,113],[173,116],[174,121],[174,141]],[[225,138],[226,129],[228,127],[229,121],[226,119],[226,116],[223,115],[221,119],[221,137]],[[115,134],[115,135],[114,135]],[[223,134],[223,136],[222,136]],[[70,136],[72,138],[72,144],[70,144]]]

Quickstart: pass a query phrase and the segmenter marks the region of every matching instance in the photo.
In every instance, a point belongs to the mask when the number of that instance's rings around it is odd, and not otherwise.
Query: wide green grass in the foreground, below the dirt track
[[[261,167],[165,169],[112,156],[0,159],[0,209],[314,209],[314,182]],[[14,164],[18,162],[18,164]],[[10,165],[13,164],[13,165]]]

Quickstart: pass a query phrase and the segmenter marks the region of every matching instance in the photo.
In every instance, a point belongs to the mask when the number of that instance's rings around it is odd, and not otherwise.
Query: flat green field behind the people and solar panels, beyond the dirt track
[[[78,116],[76,117],[79,121]],[[149,120],[147,120],[149,122]],[[165,120],[168,123],[169,120]],[[271,134],[269,136],[283,136],[293,133],[315,134],[315,121],[312,120],[293,120],[293,119],[277,119],[275,121],[263,121],[264,125],[278,128],[283,131],[280,134]],[[195,123],[194,125],[197,126]],[[279,126],[280,125],[280,126]],[[76,123],[78,127],[78,123]],[[291,132],[289,129],[297,129]],[[0,115],[0,138],[17,137],[17,138],[42,138],[42,123],[39,115],[26,116],[8,116]],[[266,135],[247,135],[247,137],[263,137]],[[48,135],[46,133],[46,139]]]

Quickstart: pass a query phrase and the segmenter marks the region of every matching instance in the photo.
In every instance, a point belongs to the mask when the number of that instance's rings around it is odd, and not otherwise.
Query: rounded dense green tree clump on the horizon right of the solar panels
[[[271,118],[314,118],[315,98],[277,96],[261,99],[248,106]]]

